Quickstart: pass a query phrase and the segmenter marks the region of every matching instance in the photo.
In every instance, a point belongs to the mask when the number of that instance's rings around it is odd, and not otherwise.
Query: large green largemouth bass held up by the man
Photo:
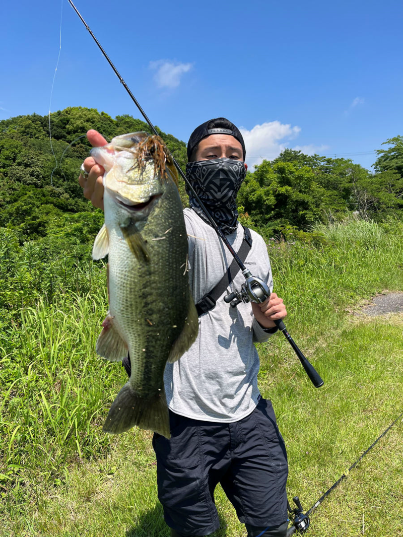
[[[177,172],[161,138],[146,133],[115,136],[91,156],[105,168],[105,223],[92,257],[109,253],[109,312],[96,352],[111,361],[128,352],[132,366],[103,430],[137,425],[169,438],[165,364],[178,360],[198,332]]]

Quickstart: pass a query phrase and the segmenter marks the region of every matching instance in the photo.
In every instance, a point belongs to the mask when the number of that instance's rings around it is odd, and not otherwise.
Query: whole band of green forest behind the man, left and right
[[[85,132],[97,129],[110,140],[118,134],[149,130],[129,115],[112,119],[94,108],[73,107],[51,114],[0,121],[0,227],[15,231],[20,242],[47,235],[65,235],[87,242],[102,216],[83,198],[77,182],[90,145]],[[182,168],[186,145],[157,127]],[[400,215],[403,194],[403,136],[378,150],[376,172],[344,158],[307,156],[285,149],[274,161],[249,171],[239,193],[248,221],[264,235],[315,222],[342,220],[357,212],[365,220],[382,221]],[[57,160],[57,166],[56,166]],[[181,183],[184,205],[186,195]]]

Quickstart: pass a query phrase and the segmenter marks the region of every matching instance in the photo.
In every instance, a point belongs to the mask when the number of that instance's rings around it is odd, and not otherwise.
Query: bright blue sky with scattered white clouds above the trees
[[[249,165],[291,147],[370,168],[403,134],[401,0],[75,4],[150,119],[184,141],[222,115]],[[0,119],[48,113],[61,5],[2,4]],[[52,111],[140,117],[67,0],[61,41]]]

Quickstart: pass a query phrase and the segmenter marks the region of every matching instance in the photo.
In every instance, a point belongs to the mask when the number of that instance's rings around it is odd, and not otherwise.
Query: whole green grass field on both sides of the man
[[[281,334],[258,352],[289,455],[287,492],[307,510],[403,411],[403,317],[354,315],[374,294],[403,290],[403,226],[352,221],[305,240],[269,240],[269,255],[287,329],[325,386],[312,386]],[[0,535],[168,537],[152,433],[101,431],[125,373],[95,354],[105,277],[99,264],[85,270],[89,292],[61,284],[51,303],[27,299],[4,321]],[[307,535],[403,536],[402,439],[399,420],[314,512]],[[215,535],[246,535],[220,488],[215,499]]]

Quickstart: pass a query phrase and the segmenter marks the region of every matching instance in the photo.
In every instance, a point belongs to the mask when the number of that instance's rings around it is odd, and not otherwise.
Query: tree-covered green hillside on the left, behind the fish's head
[[[94,108],[66,108],[51,114],[54,156],[47,116],[20,115],[0,121],[0,227],[15,230],[20,241],[67,234],[86,242],[93,236],[102,217],[95,215],[77,181],[80,165],[89,156],[85,133],[91,128],[107,140],[149,131],[145,122],[129,115],[112,119]],[[185,143],[156,129],[185,166]],[[183,185],[181,194],[184,198]]]

